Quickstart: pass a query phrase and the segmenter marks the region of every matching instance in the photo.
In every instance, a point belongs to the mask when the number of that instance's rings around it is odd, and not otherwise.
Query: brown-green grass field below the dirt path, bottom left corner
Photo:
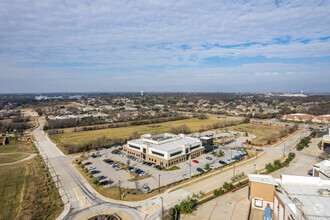
[[[0,169],[0,219],[55,219],[62,201],[42,158]]]

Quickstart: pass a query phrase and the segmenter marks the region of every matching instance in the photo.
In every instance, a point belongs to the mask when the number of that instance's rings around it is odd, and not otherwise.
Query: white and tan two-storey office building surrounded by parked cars
[[[128,141],[123,151],[146,162],[170,167],[200,156],[204,147],[198,138],[164,133],[154,136],[146,134]]]

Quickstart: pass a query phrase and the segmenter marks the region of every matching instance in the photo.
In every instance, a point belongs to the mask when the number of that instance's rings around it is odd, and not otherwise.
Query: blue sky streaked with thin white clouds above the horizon
[[[1,0],[0,93],[330,92],[330,1]]]

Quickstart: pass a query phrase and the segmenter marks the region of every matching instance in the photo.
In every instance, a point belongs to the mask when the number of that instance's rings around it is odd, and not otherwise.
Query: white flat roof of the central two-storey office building
[[[129,141],[132,144],[148,144],[149,147],[161,151],[173,151],[179,147],[189,144],[201,143],[198,138],[187,137],[184,135],[161,134],[161,135],[143,135],[142,138]]]

